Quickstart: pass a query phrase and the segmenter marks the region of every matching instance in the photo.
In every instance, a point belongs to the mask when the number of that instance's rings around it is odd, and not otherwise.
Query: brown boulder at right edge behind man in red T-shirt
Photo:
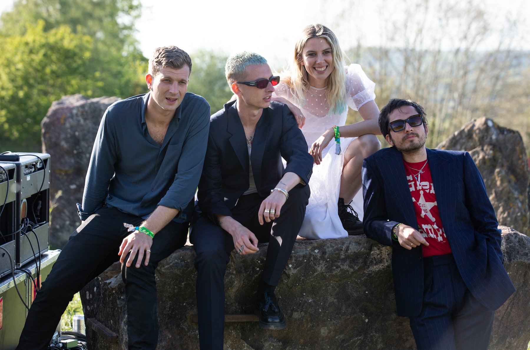
[[[471,120],[443,150],[468,151],[479,168],[499,224],[530,236],[530,172],[521,135],[493,120]]]

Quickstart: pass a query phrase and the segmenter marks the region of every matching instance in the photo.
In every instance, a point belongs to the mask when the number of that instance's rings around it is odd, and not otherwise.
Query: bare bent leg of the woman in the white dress
[[[348,204],[361,188],[363,160],[381,149],[381,142],[372,134],[362,135],[352,141],[344,154],[344,166],[340,177],[339,197]]]

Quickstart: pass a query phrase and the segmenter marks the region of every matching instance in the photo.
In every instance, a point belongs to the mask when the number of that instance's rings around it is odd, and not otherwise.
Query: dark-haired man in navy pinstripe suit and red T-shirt
[[[487,349],[494,310],[515,291],[484,182],[467,152],[429,150],[423,108],[393,99],[388,144],[363,164],[364,230],[391,246],[399,316],[418,349]]]

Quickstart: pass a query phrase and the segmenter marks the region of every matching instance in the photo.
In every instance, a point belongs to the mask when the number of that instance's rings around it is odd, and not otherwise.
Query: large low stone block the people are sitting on
[[[499,309],[490,349],[526,350],[530,340],[530,238],[501,226],[506,267],[517,288]],[[225,277],[226,312],[252,313],[267,244],[255,255],[233,253]],[[262,330],[257,322],[225,323],[225,349],[414,349],[408,318],[396,316],[391,249],[364,235],[295,243],[277,295],[287,317],[284,330]],[[192,247],[175,251],[156,272],[158,349],[199,349]],[[87,330],[91,350],[126,349],[127,317],[119,264],[81,292],[85,318],[119,334],[109,344]]]

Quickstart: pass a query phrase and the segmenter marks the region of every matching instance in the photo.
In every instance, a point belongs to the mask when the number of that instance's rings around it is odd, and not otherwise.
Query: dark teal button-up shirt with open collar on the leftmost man
[[[162,145],[147,132],[149,93],[113,103],[101,119],[86,174],[86,220],[104,204],[148,217],[158,205],[175,208],[176,222],[189,221],[208,139],[210,106],[186,93]],[[191,203],[191,204],[190,204]]]

